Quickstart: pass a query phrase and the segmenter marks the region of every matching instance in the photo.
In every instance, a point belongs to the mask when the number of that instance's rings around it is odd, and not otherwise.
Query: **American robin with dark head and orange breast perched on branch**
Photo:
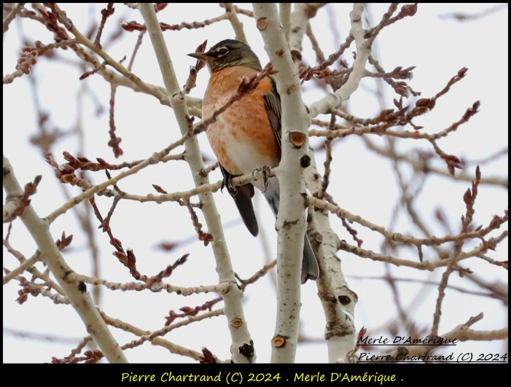
[[[211,71],[202,102],[203,119],[211,117],[229,101],[243,78],[258,76],[262,71],[258,57],[238,40],[222,40],[210,51],[188,55],[204,61]],[[281,161],[281,99],[274,80],[264,78],[252,93],[221,113],[207,127],[206,134],[218,158],[225,186],[248,230],[257,236],[259,227],[252,205],[254,186],[263,192],[276,215],[280,203],[278,180],[272,177],[266,182],[258,180],[233,187],[230,179],[251,174],[262,166],[275,167]],[[318,274],[317,260],[306,236],[301,280],[315,280]]]

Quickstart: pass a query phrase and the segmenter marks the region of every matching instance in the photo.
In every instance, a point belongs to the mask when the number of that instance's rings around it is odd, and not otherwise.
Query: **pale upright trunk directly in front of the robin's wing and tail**
[[[277,170],[280,207],[276,221],[277,320],[272,340],[271,362],[294,362],[300,313],[300,268],[306,230],[304,167],[308,159],[310,119],[301,100],[301,86],[284,29],[274,3],[253,3],[254,17],[265,49],[277,74],[275,81],[282,102],[282,158]],[[294,137],[301,142],[293,140]]]

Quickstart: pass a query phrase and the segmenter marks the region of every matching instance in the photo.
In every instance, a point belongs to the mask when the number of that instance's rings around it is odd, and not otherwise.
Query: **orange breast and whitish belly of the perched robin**
[[[227,67],[212,74],[202,104],[202,117],[211,117],[224,106],[238,89],[243,77],[257,75],[244,66]],[[257,89],[244,95],[217,121],[207,127],[206,134],[220,164],[233,175],[250,174],[261,166],[277,166],[281,158],[280,146],[266,113],[263,94],[271,92],[269,78],[263,79]]]

